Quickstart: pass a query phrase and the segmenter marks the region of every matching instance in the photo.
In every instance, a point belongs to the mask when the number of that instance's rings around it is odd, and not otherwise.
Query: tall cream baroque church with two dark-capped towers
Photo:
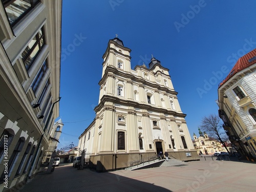
[[[197,160],[169,70],[153,56],[148,68],[143,63],[132,70],[130,52],[119,38],[109,40],[96,118],[80,135],[78,147],[90,154],[90,166],[99,172],[160,151]]]

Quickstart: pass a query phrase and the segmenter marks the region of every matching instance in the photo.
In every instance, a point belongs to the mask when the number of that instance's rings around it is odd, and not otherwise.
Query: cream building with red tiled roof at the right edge
[[[219,84],[219,116],[237,151],[256,160],[256,49],[238,59]]]

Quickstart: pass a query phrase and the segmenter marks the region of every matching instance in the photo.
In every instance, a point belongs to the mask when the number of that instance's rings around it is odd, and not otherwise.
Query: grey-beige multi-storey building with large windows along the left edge
[[[59,116],[61,6],[0,4],[0,191],[38,172]]]

